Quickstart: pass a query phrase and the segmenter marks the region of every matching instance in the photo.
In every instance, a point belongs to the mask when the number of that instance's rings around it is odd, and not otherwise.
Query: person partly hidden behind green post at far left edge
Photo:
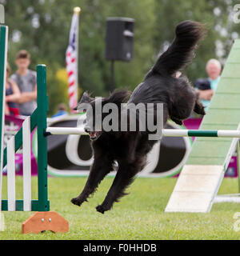
[[[17,84],[9,78],[10,76],[10,66],[6,65],[6,111],[5,114],[18,115],[18,100],[20,98],[20,90]]]

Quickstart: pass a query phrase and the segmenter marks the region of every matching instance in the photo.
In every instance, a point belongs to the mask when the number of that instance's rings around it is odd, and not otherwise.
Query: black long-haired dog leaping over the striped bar
[[[114,92],[109,98],[102,99],[102,106],[108,102],[114,102],[118,106],[123,102],[163,103],[164,125],[168,118],[182,125],[182,120],[188,118],[193,110],[197,114],[205,114],[202,104],[198,101],[198,95],[187,78],[182,75],[176,77],[176,73],[194,57],[197,43],[204,35],[203,26],[198,22],[185,21],[178,24],[175,33],[176,37],[168,50],[158,58],[134,92],[131,95],[126,90]],[[82,96],[80,103],[82,102],[89,102],[94,108],[94,98],[90,98],[86,93]],[[82,193],[71,202],[78,206],[87,202],[87,198],[94,193],[106,174],[113,170],[114,161],[117,161],[118,170],[114,182],[102,205],[96,207],[98,212],[104,214],[106,210],[111,209],[114,202],[118,202],[119,198],[126,194],[126,187],[130,186],[134,176],[146,165],[146,154],[157,141],[148,139],[148,131],[87,132],[92,139],[94,163]]]

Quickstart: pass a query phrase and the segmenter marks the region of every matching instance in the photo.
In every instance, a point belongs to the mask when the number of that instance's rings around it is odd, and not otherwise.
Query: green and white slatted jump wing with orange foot
[[[50,212],[47,194],[47,142],[43,132],[46,130],[46,113],[48,102],[46,97],[46,66],[37,66],[38,108],[22,124],[18,133],[7,142],[3,153],[4,104],[6,83],[6,52],[8,27],[0,26],[0,96],[1,106],[1,210],[36,211],[34,215],[22,223],[22,233],[39,233],[43,230],[54,232],[68,231],[68,222],[56,212]],[[38,199],[31,198],[31,166],[30,166],[30,134],[38,127]],[[15,160],[14,154],[22,146],[23,151],[23,199],[16,200],[15,195]],[[7,168],[7,200],[2,200],[2,169]]]

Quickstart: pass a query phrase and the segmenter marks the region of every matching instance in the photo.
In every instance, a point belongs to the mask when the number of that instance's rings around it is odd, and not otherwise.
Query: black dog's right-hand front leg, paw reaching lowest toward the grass
[[[130,186],[130,184],[134,181],[135,174],[141,171],[142,167],[144,166],[146,160],[145,157],[143,158],[136,158],[133,163],[120,163],[118,172],[109,192],[106,195],[106,198],[102,202],[102,205],[96,207],[98,212],[104,214],[106,210],[111,209],[114,202],[118,202],[119,198],[126,195],[124,190]]]

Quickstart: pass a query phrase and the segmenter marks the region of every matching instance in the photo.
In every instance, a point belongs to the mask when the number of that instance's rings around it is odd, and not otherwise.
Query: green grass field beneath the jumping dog
[[[17,177],[18,190],[21,177]],[[70,223],[66,234],[46,231],[42,234],[21,234],[21,225],[30,212],[4,212],[5,239],[239,239],[234,231],[233,218],[240,204],[214,204],[210,214],[164,213],[174,189],[175,178],[137,178],[129,195],[115,203],[113,210],[99,214],[95,206],[103,201],[113,178],[106,178],[98,191],[80,208],[70,203],[78,195],[86,178],[49,178],[50,209],[62,214]],[[3,198],[6,198],[6,177],[3,179]],[[32,192],[36,198],[37,179],[33,178]],[[238,193],[238,180],[225,178],[219,194]],[[18,198],[22,198],[22,191]]]

